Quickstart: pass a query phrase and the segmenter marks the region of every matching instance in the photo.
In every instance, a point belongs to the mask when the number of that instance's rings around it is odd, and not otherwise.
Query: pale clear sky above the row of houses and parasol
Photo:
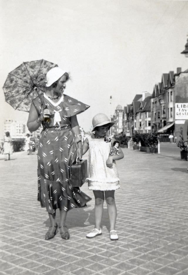
[[[64,93],[90,105],[78,115],[90,131],[95,114],[110,117],[152,93],[162,73],[188,69],[187,22],[188,1],[0,0],[0,138],[4,119],[27,122],[2,89],[22,62],[45,59],[70,73]]]

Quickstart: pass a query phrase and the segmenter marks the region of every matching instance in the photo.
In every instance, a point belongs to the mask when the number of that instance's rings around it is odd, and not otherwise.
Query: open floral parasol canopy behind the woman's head
[[[29,112],[32,100],[46,91],[46,73],[54,67],[58,65],[44,59],[23,62],[6,78],[5,101],[15,110]]]

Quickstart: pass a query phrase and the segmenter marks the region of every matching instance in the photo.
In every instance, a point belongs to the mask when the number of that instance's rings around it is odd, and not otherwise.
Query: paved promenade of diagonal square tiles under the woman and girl
[[[45,241],[49,219],[36,200],[36,153],[1,157],[0,274],[187,275],[188,162],[173,154],[175,147],[169,154],[122,148],[118,241],[110,241],[105,204],[103,234],[85,238],[94,226],[94,199],[68,213],[69,240],[58,232]],[[87,185],[81,189],[93,198]]]

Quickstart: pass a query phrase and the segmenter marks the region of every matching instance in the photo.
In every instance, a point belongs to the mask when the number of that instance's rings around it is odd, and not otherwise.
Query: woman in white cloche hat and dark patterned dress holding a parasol
[[[33,132],[43,125],[38,147],[38,200],[46,207],[51,226],[45,239],[55,236],[56,209],[60,210],[59,230],[63,239],[70,237],[66,227],[67,211],[83,207],[90,197],[73,188],[70,182],[69,164],[76,156],[82,158],[82,144],[76,150],[74,136],[80,135],[76,115],[88,105],[63,95],[69,75],[59,67],[46,74],[47,91],[31,104],[27,126]]]

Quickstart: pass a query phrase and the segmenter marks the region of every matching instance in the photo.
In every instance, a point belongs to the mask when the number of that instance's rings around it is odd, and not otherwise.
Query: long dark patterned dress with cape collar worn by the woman
[[[76,148],[70,117],[89,108],[88,105],[68,95],[54,103],[43,95],[43,105],[39,97],[33,100],[38,115],[45,106],[52,115],[43,122],[38,147],[38,200],[48,213],[56,209],[68,211],[83,207],[91,200],[79,188],[73,188],[70,181],[69,163],[75,160]]]

